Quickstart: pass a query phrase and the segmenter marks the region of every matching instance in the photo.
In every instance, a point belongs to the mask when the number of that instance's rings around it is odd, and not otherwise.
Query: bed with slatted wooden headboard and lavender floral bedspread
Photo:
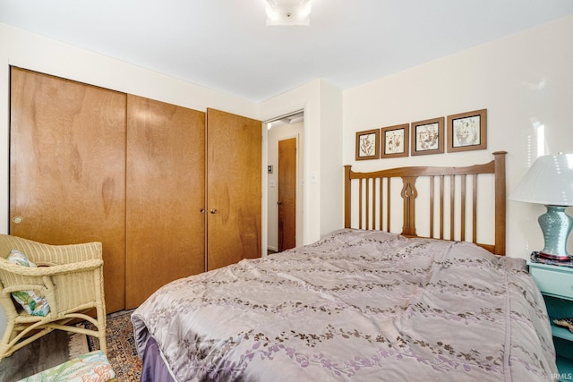
[[[504,153],[465,167],[346,167],[345,178],[345,228],[176,280],[134,310],[141,380],[557,378],[543,298],[525,260],[503,256]],[[477,191],[493,197],[490,243]]]

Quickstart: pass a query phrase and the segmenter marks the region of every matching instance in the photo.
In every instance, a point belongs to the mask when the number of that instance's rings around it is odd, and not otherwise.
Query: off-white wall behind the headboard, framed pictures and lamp
[[[395,166],[485,163],[506,150],[507,187],[517,186],[535,157],[573,153],[573,17],[449,55],[344,91],[345,164],[355,171]],[[487,108],[487,149],[355,161],[355,132]],[[540,126],[544,132],[538,140]],[[538,149],[540,148],[540,149]],[[543,206],[508,202],[507,254],[543,248]],[[569,214],[573,208],[569,208]],[[569,252],[573,240],[569,238]]]

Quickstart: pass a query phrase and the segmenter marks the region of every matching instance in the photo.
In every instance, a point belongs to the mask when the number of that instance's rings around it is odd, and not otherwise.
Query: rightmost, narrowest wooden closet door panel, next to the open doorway
[[[261,121],[207,110],[207,267],[261,257]]]

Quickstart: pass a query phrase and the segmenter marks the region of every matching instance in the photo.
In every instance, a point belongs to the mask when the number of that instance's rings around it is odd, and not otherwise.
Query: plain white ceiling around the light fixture
[[[312,0],[310,26],[267,27],[264,0],[0,0],[0,22],[253,102],[318,78],[352,88],[569,14],[573,0]]]

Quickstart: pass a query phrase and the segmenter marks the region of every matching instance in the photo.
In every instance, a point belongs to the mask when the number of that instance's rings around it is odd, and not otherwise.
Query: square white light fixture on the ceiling
[[[311,0],[266,0],[267,25],[308,25]]]

